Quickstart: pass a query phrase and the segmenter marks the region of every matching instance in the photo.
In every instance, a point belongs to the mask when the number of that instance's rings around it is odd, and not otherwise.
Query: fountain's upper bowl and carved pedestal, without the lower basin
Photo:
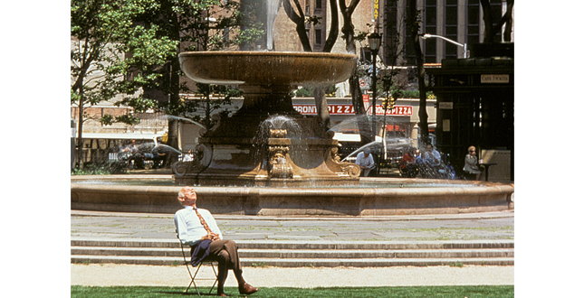
[[[359,167],[340,163],[334,132],[322,116],[302,116],[292,107],[299,85],[346,79],[358,57],[325,52],[192,51],[179,54],[181,69],[199,83],[237,85],[244,104],[232,116],[215,116],[199,137],[196,158],[174,167],[177,184],[201,186],[304,186],[359,183]],[[300,127],[294,146],[286,127],[266,121],[285,116]],[[260,133],[267,132],[266,135]],[[302,150],[298,150],[301,148]]]

